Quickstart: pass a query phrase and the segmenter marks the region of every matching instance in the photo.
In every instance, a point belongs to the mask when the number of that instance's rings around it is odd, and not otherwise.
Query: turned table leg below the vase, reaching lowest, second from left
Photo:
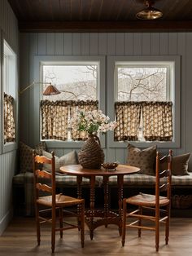
[[[95,176],[90,177],[90,239],[94,238],[94,186],[95,186]]]

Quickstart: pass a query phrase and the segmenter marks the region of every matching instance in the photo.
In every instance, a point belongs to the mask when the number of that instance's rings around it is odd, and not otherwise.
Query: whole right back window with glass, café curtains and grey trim
[[[179,143],[179,67],[179,57],[108,58],[108,82],[114,73],[116,142]]]

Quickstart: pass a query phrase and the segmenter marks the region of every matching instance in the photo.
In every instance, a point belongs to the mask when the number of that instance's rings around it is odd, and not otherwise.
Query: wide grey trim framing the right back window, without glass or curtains
[[[141,63],[142,61],[151,61],[151,62],[174,62],[175,64],[175,73],[173,73],[173,86],[172,89],[172,100],[173,100],[173,133],[174,133],[174,141],[172,142],[156,142],[156,141],[129,141],[133,143],[136,147],[139,148],[147,148],[152,145],[157,145],[158,148],[179,148],[181,143],[181,135],[180,135],[180,84],[181,84],[181,57],[178,55],[170,55],[170,56],[108,56],[107,57],[107,113],[111,119],[115,117],[115,108],[114,103],[116,99],[116,88],[115,88],[115,68],[116,62],[137,62]],[[111,132],[107,135],[108,147],[109,148],[127,148],[127,141],[125,142],[116,142],[114,141],[114,133]]]

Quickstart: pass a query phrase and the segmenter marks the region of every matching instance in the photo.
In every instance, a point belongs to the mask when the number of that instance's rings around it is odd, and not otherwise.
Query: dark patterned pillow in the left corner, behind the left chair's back
[[[42,154],[42,150],[46,150],[46,143],[41,142],[35,148],[38,155]],[[33,148],[20,142],[20,172],[33,172]]]

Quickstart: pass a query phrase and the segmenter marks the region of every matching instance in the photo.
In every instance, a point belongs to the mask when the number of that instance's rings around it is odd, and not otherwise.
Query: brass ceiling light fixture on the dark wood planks
[[[155,20],[162,17],[163,13],[162,11],[159,11],[155,7],[152,7],[154,4],[154,1],[152,0],[146,0],[146,9],[137,12],[136,17],[140,20]]]

